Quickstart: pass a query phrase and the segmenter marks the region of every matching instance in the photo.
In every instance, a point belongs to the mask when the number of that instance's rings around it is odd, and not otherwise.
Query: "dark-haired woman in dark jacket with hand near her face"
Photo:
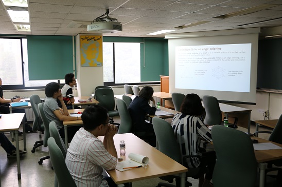
[[[151,123],[145,121],[147,114],[154,115],[156,111],[155,100],[152,97],[154,90],[152,87],[143,87],[138,96],[133,99],[129,105],[129,113],[133,121],[134,132],[146,132],[148,142],[151,146],[155,146],[154,129]],[[149,105],[149,101],[153,102],[152,107]],[[150,138],[149,138],[150,137]]]

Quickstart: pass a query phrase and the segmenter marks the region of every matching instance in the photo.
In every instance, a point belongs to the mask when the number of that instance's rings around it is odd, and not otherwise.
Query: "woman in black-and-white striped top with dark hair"
[[[211,140],[211,132],[201,121],[199,116],[203,113],[203,106],[200,97],[197,94],[187,94],[182,102],[180,112],[175,114],[171,126],[173,128],[177,142],[182,155],[203,155],[205,156],[205,164],[208,168],[206,176],[199,178],[199,187],[213,186],[209,183],[213,176],[216,163],[216,155],[214,151],[205,152],[200,149],[200,137],[207,141]],[[188,168],[202,167],[200,158],[190,158]]]

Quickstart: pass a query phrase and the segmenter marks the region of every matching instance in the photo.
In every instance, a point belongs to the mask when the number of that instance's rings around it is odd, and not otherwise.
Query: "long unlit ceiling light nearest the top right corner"
[[[254,12],[258,12],[260,10],[264,10],[264,9],[268,9],[268,8],[276,7],[276,6],[278,6],[278,4],[276,4],[276,5],[274,5],[274,4],[262,4],[262,5],[259,5],[259,6],[256,6],[256,7],[251,7],[251,8],[239,10],[239,11],[236,11],[236,12],[232,12],[232,13],[229,13],[229,14],[216,16],[214,18],[226,19],[226,18],[238,16],[238,15],[251,14],[251,13],[254,13]]]

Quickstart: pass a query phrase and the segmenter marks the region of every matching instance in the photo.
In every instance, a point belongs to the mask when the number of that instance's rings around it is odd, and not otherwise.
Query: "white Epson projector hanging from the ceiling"
[[[122,31],[122,25],[119,22],[94,22],[87,25],[87,31],[115,33]]]

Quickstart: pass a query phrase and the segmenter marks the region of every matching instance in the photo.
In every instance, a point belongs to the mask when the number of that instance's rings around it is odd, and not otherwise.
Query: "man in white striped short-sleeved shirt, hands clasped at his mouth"
[[[113,170],[117,152],[113,136],[117,128],[110,124],[107,109],[95,105],[82,113],[83,128],[75,134],[66,154],[66,165],[77,186],[116,186],[102,169]],[[104,136],[103,142],[98,136]]]

